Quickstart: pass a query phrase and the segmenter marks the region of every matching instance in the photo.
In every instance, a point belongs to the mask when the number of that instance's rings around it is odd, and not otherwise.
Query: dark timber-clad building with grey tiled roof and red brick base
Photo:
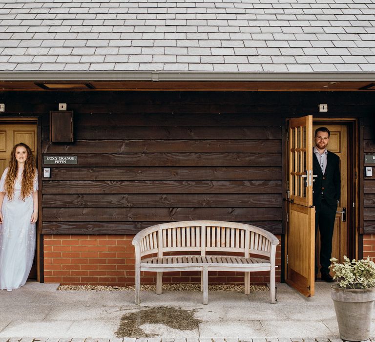
[[[312,293],[291,196],[319,126],[341,159],[333,255],[375,257],[374,1],[0,1],[0,88],[0,171],[23,141],[40,174],[30,278],[132,285],[139,230],[215,219],[277,235],[277,281]]]

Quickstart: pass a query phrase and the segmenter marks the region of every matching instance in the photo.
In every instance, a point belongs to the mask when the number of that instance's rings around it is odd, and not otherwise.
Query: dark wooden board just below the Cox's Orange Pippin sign
[[[281,167],[52,167],[51,180],[281,179]]]

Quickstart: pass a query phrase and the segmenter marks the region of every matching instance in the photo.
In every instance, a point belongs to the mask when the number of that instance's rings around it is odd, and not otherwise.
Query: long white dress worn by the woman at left
[[[33,265],[35,253],[35,223],[31,223],[34,212],[32,193],[22,201],[21,172],[14,185],[13,200],[5,195],[2,202],[2,224],[0,223],[0,289],[12,291],[25,284]],[[4,183],[8,168],[0,180],[0,192],[5,192]],[[38,173],[34,179],[34,191],[38,190]]]

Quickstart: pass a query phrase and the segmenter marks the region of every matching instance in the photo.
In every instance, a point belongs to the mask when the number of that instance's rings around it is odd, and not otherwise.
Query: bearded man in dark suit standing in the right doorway
[[[312,205],[315,207],[315,236],[320,232],[320,273],[322,280],[333,281],[330,275],[332,236],[337,203],[340,200],[341,177],[338,155],[327,150],[330,131],[326,127],[315,130],[315,147],[312,156],[313,182]],[[315,275],[318,262],[315,260]]]

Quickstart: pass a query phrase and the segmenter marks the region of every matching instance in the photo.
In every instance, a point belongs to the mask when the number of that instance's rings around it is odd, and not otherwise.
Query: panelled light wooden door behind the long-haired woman
[[[35,124],[1,124],[0,125],[0,172],[9,166],[10,153],[13,146],[25,143],[37,156],[37,125]],[[29,279],[37,279],[37,253],[35,253],[33,266]]]

